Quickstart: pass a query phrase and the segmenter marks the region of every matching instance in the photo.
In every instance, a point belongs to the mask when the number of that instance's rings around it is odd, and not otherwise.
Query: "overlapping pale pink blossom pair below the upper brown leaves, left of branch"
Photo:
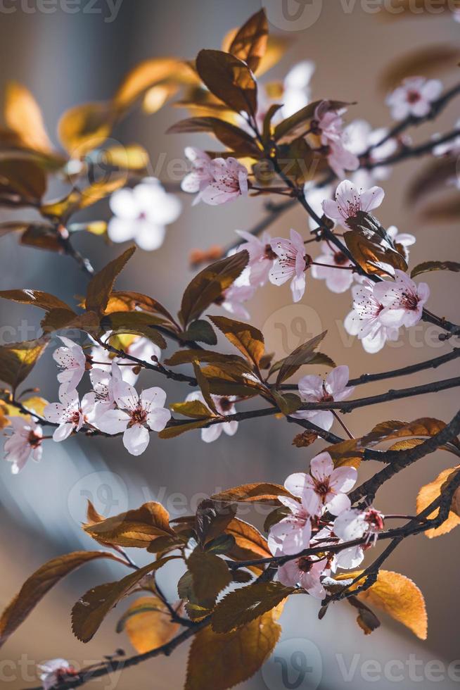
[[[248,194],[248,170],[236,158],[211,159],[200,149],[186,149],[193,168],[181,187],[184,192],[198,192],[193,203],[204,201],[211,206],[233,201]]]

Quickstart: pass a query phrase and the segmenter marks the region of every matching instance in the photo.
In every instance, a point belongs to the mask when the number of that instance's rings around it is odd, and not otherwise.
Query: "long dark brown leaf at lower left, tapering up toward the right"
[[[87,591],[72,608],[72,631],[82,642],[89,640],[98,631],[106,615],[141,579],[153,570],[158,570],[174,556],[160,558],[130,573],[118,582],[100,584]]]

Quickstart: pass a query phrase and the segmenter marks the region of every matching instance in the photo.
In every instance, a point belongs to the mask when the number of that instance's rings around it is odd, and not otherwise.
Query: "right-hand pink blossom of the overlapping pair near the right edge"
[[[385,326],[414,326],[421,320],[423,305],[430,296],[426,283],[416,284],[407,273],[395,269],[395,281],[377,283],[373,294],[383,304],[380,320]]]

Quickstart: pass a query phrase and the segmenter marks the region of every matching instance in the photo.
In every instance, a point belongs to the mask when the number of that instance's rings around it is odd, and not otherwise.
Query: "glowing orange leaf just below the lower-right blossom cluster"
[[[358,577],[361,572],[347,572],[346,578]],[[340,577],[338,578],[340,579]],[[352,587],[352,590],[362,582]],[[369,589],[357,594],[360,601],[376,606],[409,628],[419,639],[425,640],[427,617],[423,594],[409,577],[399,572],[379,570],[377,581]]]

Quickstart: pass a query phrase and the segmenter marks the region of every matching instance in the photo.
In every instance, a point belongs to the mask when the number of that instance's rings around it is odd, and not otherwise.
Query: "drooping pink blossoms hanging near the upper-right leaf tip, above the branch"
[[[321,101],[315,108],[311,129],[313,134],[319,134],[322,146],[327,147],[328,163],[337,177],[343,177],[345,170],[358,168],[359,158],[345,148],[343,119],[329,101]]]

